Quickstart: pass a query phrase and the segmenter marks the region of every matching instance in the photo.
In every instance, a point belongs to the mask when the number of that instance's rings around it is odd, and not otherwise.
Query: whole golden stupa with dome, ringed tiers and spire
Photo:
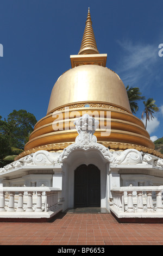
[[[24,153],[18,157],[38,150],[63,150],[74,143],[78,135],[74,120],[83,113],[95,112],[103,116],[95,132],[98,143],[110,150],[134,148],[161,155],[154,150],[142,121],[131,113],[126,88],[121,78],[106,68],[106,57],[107,54],[99,54],[97,50],[89,9],[79,53],[70,56],[72,69],[58,78],[46,117],[37,122]],[[111,121],[111,130],[106,136],[101,127],[108,121]]]

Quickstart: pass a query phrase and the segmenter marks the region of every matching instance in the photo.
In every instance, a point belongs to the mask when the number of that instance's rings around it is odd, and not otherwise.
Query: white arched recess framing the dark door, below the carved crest
[[[109,178],[109,162],[103,159],[100,151],[90,150],[74,150],[68,158],[63,161],[62,169],[65,173],[65,209],[74,207],[74,172],[82,164],[95,165],[100,170],[101,182],[101,208],[108,208],[108,178]]]

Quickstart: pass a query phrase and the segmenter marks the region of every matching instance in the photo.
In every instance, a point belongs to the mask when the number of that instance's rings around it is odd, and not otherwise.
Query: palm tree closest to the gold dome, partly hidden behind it
[[[141,92],[138,87],[129,88],[129,86],[127,86],[126,90],[127,90],[129,103],[130,103],[131,112],[135,114],[139,109],[136,101],[145,100],[146,98],[144,96],[141,96]]]

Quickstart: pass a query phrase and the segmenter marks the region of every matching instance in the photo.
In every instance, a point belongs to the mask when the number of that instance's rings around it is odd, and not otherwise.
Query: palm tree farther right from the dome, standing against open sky
[[[142,112],[141,118],[144,119],[144,114],[146,114],[146,125],[147,128],[147,121],[152,120],[154,112],[158,112],[159,108],[155,104],[155,100],[153,98],[149,98],[147,101],[143,101],[145,105],[145,110]]]

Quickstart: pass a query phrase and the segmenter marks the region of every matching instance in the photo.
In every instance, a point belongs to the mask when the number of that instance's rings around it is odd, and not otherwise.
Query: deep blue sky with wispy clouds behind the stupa
[[[152,139],[163,136],[162,0],[0,0],[0,7],[3,118],[14,109],[45,117],[55,82],[71,68],[70,55],[79,52],[90,7],[98,51],[108,54],[106,66],[125,86],[155,99],[160,111],[147,130]],[[136,116],[142,111],[140,102]]]

